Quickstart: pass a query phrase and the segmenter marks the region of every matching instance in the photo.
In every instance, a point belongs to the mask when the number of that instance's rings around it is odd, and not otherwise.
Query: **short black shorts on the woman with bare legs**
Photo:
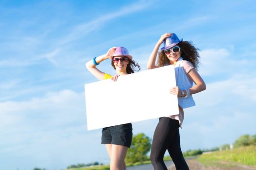
[[[110,126],[102,129],[101,144],[123,145],[129,148],[131,140],[131,123]]]

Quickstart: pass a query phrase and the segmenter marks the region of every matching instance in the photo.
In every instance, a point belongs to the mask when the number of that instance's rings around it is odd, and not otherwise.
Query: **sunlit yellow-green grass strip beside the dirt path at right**
[[[256,166],[256,146],[215,151],[200,155],[196,160],[205,165],[217,167],[232,167],[236,164]]]

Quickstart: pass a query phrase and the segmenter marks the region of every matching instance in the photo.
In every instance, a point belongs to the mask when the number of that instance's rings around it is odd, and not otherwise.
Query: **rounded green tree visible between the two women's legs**
[[[132,137],[131,146],[128,149],[126,162],[135,163],[147,160],[147,153],[151,149],[151,139],[144,133]]]

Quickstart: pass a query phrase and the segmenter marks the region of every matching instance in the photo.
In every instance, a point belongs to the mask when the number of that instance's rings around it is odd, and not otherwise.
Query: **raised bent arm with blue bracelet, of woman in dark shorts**
[[[100,64],[102,61],[107,60],[110,56],[114,54],[116,50],[116,47],[112,47],[107,51],[106,54],[103,54],[101,56],[98,56],[95,58],[96,64]],[[104,80],[105,79],[105,73],[100,71],[98,68],[96,68],[96,65],[94,64],[93,60],[90,60],[86,63],[86,68],[98,79]]]

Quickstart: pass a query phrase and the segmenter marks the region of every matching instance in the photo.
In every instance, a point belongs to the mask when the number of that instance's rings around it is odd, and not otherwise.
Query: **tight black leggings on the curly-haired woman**
[[[179,121],[160,118],[155,128],[150,159],[154,170],[168,170],[164,163],[164,154],[168,150],[176,170],[189,170],[180,149]]]

